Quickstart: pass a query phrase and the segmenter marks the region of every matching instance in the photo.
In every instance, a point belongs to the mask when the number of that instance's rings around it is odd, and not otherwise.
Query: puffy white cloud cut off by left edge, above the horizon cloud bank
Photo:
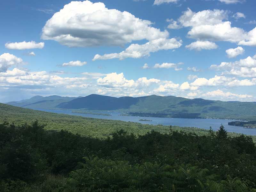
[[[15,55],[10,53],[0,55],[0,72],[5,72],[9,67],[20,64],[23,64],[23,60]]]

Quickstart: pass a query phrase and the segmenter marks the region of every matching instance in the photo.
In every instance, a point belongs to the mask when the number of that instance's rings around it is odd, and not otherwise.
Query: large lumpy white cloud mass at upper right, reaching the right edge
[[[199,41],[228,41],[239,45],[256,45],[256,27],[249,32],[231,27],[228,11],[214,9],[192,12],[189,8],[169,28],[190,27],[188,37]]]

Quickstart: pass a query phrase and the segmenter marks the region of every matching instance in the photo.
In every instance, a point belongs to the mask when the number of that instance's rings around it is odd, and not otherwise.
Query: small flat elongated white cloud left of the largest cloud
[[[36,43],[35,41],[30,41],[30,42],[15,42],[15,43],[6,43],[5,47],[7,49],[18,49],[18,50],[23,50],[23,49],[42,49],[44,47],[44,42],[41,43]]]

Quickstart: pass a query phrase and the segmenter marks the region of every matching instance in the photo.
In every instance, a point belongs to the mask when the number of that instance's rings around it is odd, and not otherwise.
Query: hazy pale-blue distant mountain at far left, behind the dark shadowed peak
[[[16,107],[25,107],[25,108],[56,108],[57,105],[63,102],[68,102],[79,97],[61,97],[58,95],[52,95],[48,97],[34,96],[30,99],[12,101],[7,103],[8,105],[13,105]]]

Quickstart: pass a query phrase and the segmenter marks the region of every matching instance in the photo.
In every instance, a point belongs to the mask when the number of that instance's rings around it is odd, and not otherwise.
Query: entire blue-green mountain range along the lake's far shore
[[[187,99],[174,96],[110,97],[91,94],[86,97],[35,96],[12,101],[24,108],[70,110],[115,110],[131,116],[256,119],[256,102]]]

